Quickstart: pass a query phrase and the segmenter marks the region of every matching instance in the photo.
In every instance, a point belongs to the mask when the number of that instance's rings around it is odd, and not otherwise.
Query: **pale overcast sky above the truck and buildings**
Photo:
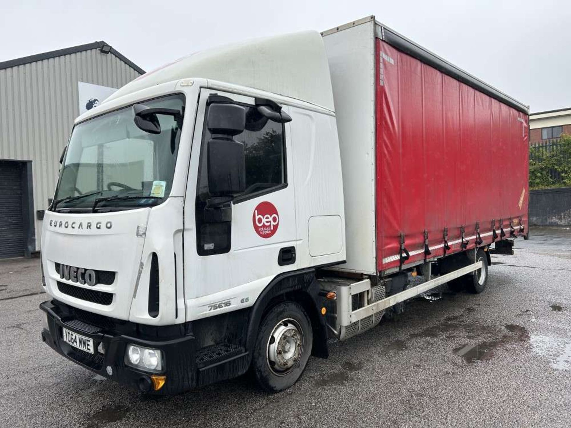
[[[0,0],[0,61],[103,40],[144,70],[247,38],[378,21],[531,111],[571,107],[569,0]]]

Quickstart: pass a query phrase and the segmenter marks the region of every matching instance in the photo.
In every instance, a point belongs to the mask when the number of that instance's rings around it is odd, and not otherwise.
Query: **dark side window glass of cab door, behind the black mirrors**
[[[234,139],[244,144],[246,190],[234,198],[234,204],[274,192],[287,185],[284,125],[268,120],[255,106],[240,105],[246,107],[246,127],[242,134],[236,135]],[[208,108],[204,116],[208,117]],[[230,251],[231,246],[231,222],[212,223],[206,219],[205,208],[208,210],[209,196],[206,149],[211,138],[205,119],[195,204],[196,249],[200,256],[226,253]]]

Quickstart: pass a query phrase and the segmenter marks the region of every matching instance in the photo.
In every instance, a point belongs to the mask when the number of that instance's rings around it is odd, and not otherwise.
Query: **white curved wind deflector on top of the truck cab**
[[[104,103],[184,78],[220,80],[335,110],[329,63],[317,31],[252,39],[185,56],[139,76]]]

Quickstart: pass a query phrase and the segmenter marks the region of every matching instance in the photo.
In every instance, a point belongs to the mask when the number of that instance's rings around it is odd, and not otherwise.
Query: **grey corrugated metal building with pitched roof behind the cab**
[[[79,85],[112,90],[143,73],[105,42],[0,62],[0,259],[39,249]]]

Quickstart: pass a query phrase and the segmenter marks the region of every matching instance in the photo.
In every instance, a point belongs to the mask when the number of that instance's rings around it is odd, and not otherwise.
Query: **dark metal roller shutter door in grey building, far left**
[[[0,160],[0,259],[23,256],[22,163]]]

